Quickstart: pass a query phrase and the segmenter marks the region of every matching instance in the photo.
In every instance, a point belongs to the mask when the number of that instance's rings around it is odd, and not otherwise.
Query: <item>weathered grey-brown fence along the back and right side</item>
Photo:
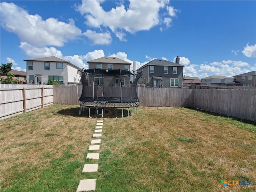
[[[86,87],[92,96],[92,86]],[[105,88],[120,95],[120,88]],[[122,88],[129,97],[131,88]],[[110,92],[110,93],[109,93]],[[189,107],[256,121],[256,90],[137,88],[140,106]],[[78,93],[78,94],[77,94]],[[79,104],[82,86],[54,86],[54,104]],[[100,96],[100,95],[99,95]]]

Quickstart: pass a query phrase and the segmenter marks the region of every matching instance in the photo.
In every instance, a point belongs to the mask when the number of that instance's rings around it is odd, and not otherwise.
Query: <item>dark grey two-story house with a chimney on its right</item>
[[[137,72],[142,72],[143,74],[142,78],[139,79],[139,83],[158,88],[182,87],[183,67],[184,65],[180,64],[178,56],[175,63],[163,59],[154,59],[137,69]]]

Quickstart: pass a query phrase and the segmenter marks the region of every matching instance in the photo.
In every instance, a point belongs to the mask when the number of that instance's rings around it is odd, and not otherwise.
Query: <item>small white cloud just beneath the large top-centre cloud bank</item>
[[[112,41],[110,32],[108,31],[105,33],[97,33],[96,31],[86,30],[83,35],[92,40],[94,45],[108,45]]]

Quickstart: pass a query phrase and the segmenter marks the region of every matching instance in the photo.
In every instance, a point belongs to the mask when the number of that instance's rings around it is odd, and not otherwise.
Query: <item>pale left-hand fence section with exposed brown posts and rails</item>
[[[0,85],[0,119],[53,104],[51,85]]]

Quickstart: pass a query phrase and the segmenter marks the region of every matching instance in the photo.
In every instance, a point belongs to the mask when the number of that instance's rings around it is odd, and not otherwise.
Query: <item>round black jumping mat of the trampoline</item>
[[[93,102],[93,97],[80,98],[80,101]],[[122,103],[132,103],[138,102],[139,100],[134,98],[122,98]],[[94,102],[111,102],[111,103],[121,103],[120,97],[94,97]]]

